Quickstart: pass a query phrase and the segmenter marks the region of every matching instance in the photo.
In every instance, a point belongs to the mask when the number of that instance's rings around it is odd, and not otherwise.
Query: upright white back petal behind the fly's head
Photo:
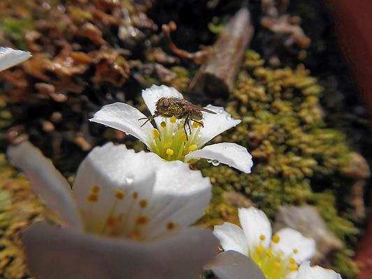
[[[173,87],[168,87],[165,85],[158,86],[154,84],[150,88],[142,90],[142,98],[144,100],[144,103],[149,108],[151,115],[153,115],[155,112],[156,102],[162,97],[184,98],[184,96],[182,96],[182,94],[179,93],[177,89],[174,89]],[[156,117],[156,119],[154,120],[155,120],[156,126],[160,127],[160,123],[161,121],[163,121],[162,118]]]

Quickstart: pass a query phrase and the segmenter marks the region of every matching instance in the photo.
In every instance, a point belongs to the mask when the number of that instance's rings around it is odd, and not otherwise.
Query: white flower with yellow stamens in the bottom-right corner
[[[242,229],[232,223],[214,227],[223,250],[250,257],[268,279],[296,278],[298,265],[315,254],[315,241],[294,229],[285,228],[271,236],[269,219],[258,209],[239,209]]]

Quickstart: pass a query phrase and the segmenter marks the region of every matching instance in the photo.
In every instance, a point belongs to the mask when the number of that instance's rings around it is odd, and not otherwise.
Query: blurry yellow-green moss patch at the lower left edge
[[[29,181],[0,153],[0,278],[30,278],[20,233],[38,220],[43,209]]]

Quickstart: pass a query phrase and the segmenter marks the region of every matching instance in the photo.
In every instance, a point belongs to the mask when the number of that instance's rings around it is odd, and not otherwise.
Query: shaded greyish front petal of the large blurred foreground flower
[[[36,223],[22,235],[27,265],[37,278],[190,279],[216,255],[218,240],[189,228],[154,243],[136,243]]]

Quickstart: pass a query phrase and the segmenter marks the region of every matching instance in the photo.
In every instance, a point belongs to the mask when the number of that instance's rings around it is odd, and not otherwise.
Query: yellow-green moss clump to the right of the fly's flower
[[[357,269],[350,248],[359,230],[352,222],[354,209],[341,198],[349,195],[352,181],[340,174],[348,163],[349,144],[343,133],[327,127],[319,103],[322,87],[304,66],[271,69],[264,63],[259,54],[246,52],[227,105],[241,124],[222,137],[248,148],[253,173],[223,166],[203,168],[218,189],[203,221],[221,216],[223,190],[243,193],[271,220],[283,204],[314,204],[345,243],[331,267],[343,278],[352,278]]]

